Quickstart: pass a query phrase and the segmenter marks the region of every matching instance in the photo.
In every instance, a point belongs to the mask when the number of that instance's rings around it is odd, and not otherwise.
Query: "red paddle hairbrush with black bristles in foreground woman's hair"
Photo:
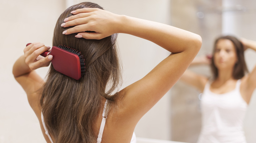
[[[28,43],[27,46],[31,44]],[[85,73],[85,59],[81,52],[67,46],[53,46],[51,51],[45,51],[41,56],[53,55],[53,68],[71,78],[79,80]]]

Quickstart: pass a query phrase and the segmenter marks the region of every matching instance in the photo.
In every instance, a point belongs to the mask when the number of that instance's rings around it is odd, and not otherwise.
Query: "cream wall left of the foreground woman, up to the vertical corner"
[[[12,65],[29,42],[52,45],[53,29],[64,10],[61,0],[1,0],[0,143],[44,143],[27,96],[12,76]],[[47,68],[38,70],[45,75]]]

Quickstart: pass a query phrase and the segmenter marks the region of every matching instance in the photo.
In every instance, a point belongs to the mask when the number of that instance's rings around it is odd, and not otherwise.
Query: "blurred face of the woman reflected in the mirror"
[[[214,65],[220,69],[233,68],[237,62],[236,49],[231,40],[218,40],[214,51]]]

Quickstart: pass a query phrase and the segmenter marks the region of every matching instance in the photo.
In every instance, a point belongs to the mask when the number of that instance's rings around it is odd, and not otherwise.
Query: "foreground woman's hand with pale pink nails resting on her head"
[[[64,19],[61,26],[75,27],[63,31],[63,34],[78,33],[76,38],[102,39],[118,33],[117,14],[99,8],[82,8],[71,13],[74,15]]]

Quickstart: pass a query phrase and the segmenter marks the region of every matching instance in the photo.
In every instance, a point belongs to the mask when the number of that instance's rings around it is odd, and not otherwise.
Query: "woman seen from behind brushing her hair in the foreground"
[[[150,40],[172,54],[145,77],[114,93],[120,82],[117,33]],[[130,143],[139,119],[177,82],[201,43],[194,33],[84,2],[60,15],[53,35],[53,46],[66,45],[84,55],[86,73],[81,79],[65,76],[51,65],[44,82],[34,70],[48,66],[54,57],[37,58],[49,49],[43,43],[24,49],[13,75],[26,91],[48,143]]]

